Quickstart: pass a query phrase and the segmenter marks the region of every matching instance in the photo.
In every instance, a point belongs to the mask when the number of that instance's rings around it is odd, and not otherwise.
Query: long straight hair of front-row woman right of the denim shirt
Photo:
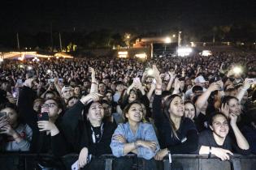
[[[165,114],[165,116],[168,118],[168,120],[170,122],[171,131],[172,131],[171,136],[174,135],[175,138],[179,139],[179,137],[176,133],[176,126],[175,126],[174,122],[171,120],[170,113],[169,113],[171,101],[176,97],[180,97],[180,96],[179,95],[171,95],[171,96],[167,97],[167,100],[165,100],[163,103],[163,113]],[[181,97],[180,97],[180,99],[181,99]]]

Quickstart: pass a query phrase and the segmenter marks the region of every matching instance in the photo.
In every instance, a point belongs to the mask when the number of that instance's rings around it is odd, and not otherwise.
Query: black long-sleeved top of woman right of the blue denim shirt
[[[155,95],[153,100],[154,124],[158,129],[161,148],[168,148],[171,154],[189,154],[197,151],[198,133],[196,125],[187,117],[181,117],[180,128],[176,130],[179,138],[172,134],[171,124],[161,108],[161,96]]]

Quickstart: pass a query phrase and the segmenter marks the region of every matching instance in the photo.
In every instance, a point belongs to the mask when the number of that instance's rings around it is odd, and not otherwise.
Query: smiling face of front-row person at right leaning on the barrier
[[[212,125],[210,125],[210,129],[220,138],[225,138],[229,130],[227,118],[223,115],[215,116]]]

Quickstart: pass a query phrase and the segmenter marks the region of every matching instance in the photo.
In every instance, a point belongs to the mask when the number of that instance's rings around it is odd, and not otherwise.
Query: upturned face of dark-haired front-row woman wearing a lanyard
[[[102,107],[102,104],[99,104],[98,102],[91,104],[87,117],[89,121],[102,121],[102,118],[104,117],[104,108]]]

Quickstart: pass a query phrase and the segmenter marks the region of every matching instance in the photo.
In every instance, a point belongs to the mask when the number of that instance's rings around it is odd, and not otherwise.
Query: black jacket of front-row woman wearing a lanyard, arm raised
[[[72,150],[80,153],[83,147],[87,147],[89,154],[102,155],[111,154],[111,138],[116,125],[109,121],[102,121],[103,132],[99,142],[93,143],[91,124],[82,116],[85,105],[78,101],[72,108],[68,109],[63,116],[62,129],[67,142],[72,144]]]

